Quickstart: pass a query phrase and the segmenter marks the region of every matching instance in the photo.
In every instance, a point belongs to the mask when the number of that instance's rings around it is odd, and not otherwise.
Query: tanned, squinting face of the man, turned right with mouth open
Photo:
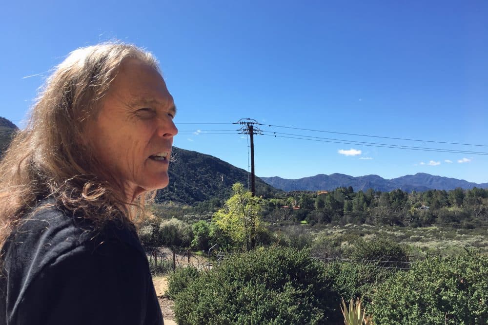
[[[137,59],[122,63],[87,137],[107,172],[132,201],[168,185],[176,108],[161,75]]]

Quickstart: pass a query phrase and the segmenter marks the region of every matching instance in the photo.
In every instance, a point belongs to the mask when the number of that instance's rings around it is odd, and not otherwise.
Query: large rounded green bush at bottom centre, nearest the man
[[[174,273],[171,286],[187,282],[185,277]],[[308,250],[237,254],[187,287],[174,287],[179,324],[325,324],[341,316],[340,297]]]

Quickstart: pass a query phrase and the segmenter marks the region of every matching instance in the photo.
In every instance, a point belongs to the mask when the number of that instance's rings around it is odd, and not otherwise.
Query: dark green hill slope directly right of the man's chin
[[[214,156],[173,147],[175,161],[169,165],[169,185],[159,190],[157,202],[195,204],[212,197],[229,198],[236,182],[247,186],[248,172]],[[256,178],[256,195],[268,197],[278,192]]]

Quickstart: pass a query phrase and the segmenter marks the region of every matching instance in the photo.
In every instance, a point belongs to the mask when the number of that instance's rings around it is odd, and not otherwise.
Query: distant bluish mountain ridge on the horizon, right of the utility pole
[[[278,176],[261,177],[264,182],[283,191],[330,191],[338,187],[352,186],[354,191],[367,190],[393,191],[427,191],[427,190],[454,190],[455,188],[472,189],[488,188],[488,183],[476,184],[465,180],[434,176],[419,172],[415,175],[406,175],[393,179],[385,179],[378,175],[366,175],[353,177],[345,174],[334,173],[330,175],[318,174],[299,179],[285,179]]]

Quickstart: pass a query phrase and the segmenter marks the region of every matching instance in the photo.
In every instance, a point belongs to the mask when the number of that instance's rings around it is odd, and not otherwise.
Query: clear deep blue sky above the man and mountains
[[[220,130],[250,117],[265,134],[321,140],[255,136],[258,176],[488,182],[488,156],[473,153],[488,153],[485,0],[68,2],[3,4],[0,116],[19,126],[70,51],[121,39],[161,61],[179,110],[177,147],[247,170],[247,138]]]

